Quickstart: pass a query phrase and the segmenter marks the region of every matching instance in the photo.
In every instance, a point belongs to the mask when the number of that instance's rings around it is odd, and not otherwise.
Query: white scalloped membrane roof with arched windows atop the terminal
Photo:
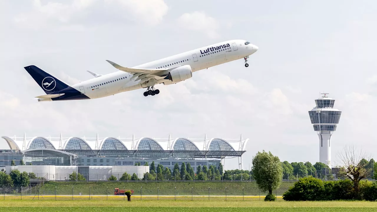
[[[246,140],[240,147],[240,141],[228,142],[222,138],[212,139],[188,139],[188,138],[140,138],[132,141],[132,138],[106,137],[96,141],[96,138],[69,137],[2,137],[10,149],[25,151],[28,149],[59,149],[59,150],[151,150],[151,151],[245,151]]]

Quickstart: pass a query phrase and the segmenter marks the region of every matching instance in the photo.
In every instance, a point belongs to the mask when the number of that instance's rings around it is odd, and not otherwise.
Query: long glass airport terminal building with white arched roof
[[[6,137],[8,150],[0,150],[0,166],[16,166],[23,160],[26,165],[113,167],[143,166],[155,161],[173,170],[175,163],[197,166],[226,166],[226,158],[238,157],[242,169],[242,155],[248,139],[189,139],[189,138],[95,138],[68,137]],[[81,168],[83,169],[83,168]],[[80,171],[79,171],[80,172]]]

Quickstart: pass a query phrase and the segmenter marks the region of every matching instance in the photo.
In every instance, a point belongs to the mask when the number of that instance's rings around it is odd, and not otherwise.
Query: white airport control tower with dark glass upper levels
[[[315,100],[316,107],[309,111],[310,121],[319,137],[319,162],[331,167],[331,136],[336,130],[342,111],[334,108],[335,100],[327,94]]]

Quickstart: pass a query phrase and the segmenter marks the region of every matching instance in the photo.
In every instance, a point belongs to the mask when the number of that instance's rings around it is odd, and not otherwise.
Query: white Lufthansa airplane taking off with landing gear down
[[[246,40],[228,40],[132,68],[106,60],[119,71],[105,75],[88,71],[94,78],[74,85],[64,83],[37,66],[24,68],[46,92],[46,95],[36,97],[38,101],[102,98],[140,88],[147,88],[143,93],[147,97],[159,94],[159,90],[155,89],[156,84],[175,84],[191,78],[193,72],[222,63],[244,58],[245,67],[248,67],[247,59],[257,50],[256,45]]]

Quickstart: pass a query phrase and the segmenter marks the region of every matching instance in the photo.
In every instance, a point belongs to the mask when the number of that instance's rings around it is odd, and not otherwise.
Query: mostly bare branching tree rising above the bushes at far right
[[[368,164],[363,163],[363,159],[369,161],[370,156],[367,157],[365,152],[357,149],[354,146],[344,147],[343,151],[337,155],[340,162],[340,174],[348,177],[353,182],[355,198],[360,199],[359,182],[363,178],[370,177],[371,170]]]

